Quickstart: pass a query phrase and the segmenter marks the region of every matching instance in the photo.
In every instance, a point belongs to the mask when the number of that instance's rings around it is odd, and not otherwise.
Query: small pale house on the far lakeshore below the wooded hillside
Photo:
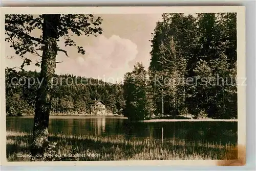
[[[90,114],[92,115],[108,115],[106,105],[101,100],[94,100],[89,103]]]

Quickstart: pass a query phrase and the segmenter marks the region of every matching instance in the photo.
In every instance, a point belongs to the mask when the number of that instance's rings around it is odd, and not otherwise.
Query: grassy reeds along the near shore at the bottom
[[[30,161],[30,157],[18,157],[29,154],[32,135],[25,132],[7,131],[7,160]],[[216,143],[157,139],[125,139],[124,136],[95,137],[91,135],[50,134],[49,141],[57,142],[55,151],[60,156],[58,161],[87,160],[230,160],[237,155],[228,153],[234,145]],[[65,154],[82,157],[65,157]],[[88,154],[100,156],[90,157]]]

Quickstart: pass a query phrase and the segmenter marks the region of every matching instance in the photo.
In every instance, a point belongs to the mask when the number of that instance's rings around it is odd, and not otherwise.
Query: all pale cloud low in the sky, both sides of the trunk
[[[56,74],[73,74],[98,78],[103,81],[115,82],[118,80],[120,82],[124,74],[133,69],[131,63],[134,63],[138,55],[138,47],[134,42],[117,35],[112,35],[109,38],[103,35],[94,37],[94,42],[91,45],[82,40],[80,45],[86,50],[86,55],[79,55],[74,47],[70,50],[66,49],[70,57],[58,53],[56,61],[62,62],[57,64]],[[31,65],[25,66],[24,69],[40,71],[40,67],[34,65],[38,58],[33,55],[28,57],[33,62]],[[6,59],[5,62],[8,67],[14,67],[20,66],[23,59],[16,57],[15,59]]]

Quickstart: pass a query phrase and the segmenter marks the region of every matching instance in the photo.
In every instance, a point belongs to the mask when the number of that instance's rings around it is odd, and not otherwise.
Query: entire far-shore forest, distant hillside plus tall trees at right
[[[123,84],[90,78],[96,84],[70,85],[65,79],[80,83],[82,77],[55,75],[64,81],[53,86],[51,112],[86,112],[97,99],[131,120],[184,114],[237,118],[237,87],[230,84],[237,77],[236,22],[236,13],[163,14],[150,40],[149,68],[136,63]],[[14,77],[27,80],[13,84]],[[6,69],[7,115],[34,113],[38,83],[29,87],[29,78],[39,78],[39,73]],[[189,85],[177,81],[188,78]],[[211,84],[209,78],[214,78]]]

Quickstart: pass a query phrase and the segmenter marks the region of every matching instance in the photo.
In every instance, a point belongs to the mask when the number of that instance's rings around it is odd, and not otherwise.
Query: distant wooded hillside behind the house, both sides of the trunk
[[[11,83],[15,72],[13,69],[6,69],[6,80],[8,81],[6,82],[8,87],[6,89],[6,113],[7,115],[32,114],[35,106],[35,94],[39,84],[36,81],[36,84],[28,86],[28,81],[29,79],[39,79],[39,73],[35,71],[19,71],[15,75],[16,79],[13,79]],[[22,82],[22,84],[19,84],[17,80],[24,80],[26,84],[23,85]],[[53,84],[52,113],[86,113],[89,107],[88,103],[95,99],[102,100],[114,114],[122,114],[123,112],[122,85],[72,75],[55,75],[54,80],[59,81]],[[71,80],[74,83],[72,85],[68,82]],[[93,84],[86,83],[84,80],[88,80]]]

